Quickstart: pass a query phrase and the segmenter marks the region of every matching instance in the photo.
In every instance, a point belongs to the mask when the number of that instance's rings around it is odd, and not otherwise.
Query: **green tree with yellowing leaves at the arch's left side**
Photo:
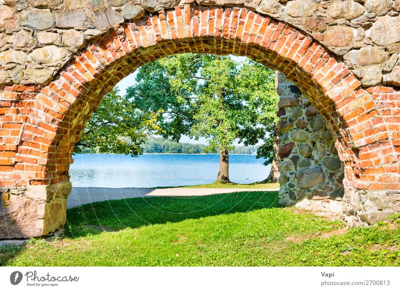
[[[85,126],[75,152],[130,154],[143,152],[148,134],[162,132],[158,112],[142,112],[128,99],[112,90],[101,100]]]

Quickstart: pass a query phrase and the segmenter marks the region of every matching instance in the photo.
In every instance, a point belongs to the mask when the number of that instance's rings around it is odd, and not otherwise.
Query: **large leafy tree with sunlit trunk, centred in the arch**
[[[229,56],[173,55],[142,66],[127,97],[143,112],[163,112],[157,119],[163,137],[205,137],[203,152],[219,151],[217,181],[226,183],[234,140],[256,144],[265,138],[271,121],[262,110],[276,115],[274,101],[263,100],[276,95],[269,84],[271,75],[273,71],[260,64],[238,63]]]

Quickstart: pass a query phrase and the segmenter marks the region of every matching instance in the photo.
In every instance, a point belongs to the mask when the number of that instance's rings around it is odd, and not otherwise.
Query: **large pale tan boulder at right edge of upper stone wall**
[[[389,45],[400,41],[400,18],[382,16],[378,17],[372,27],[366,31],[366,35],[373,43]]]

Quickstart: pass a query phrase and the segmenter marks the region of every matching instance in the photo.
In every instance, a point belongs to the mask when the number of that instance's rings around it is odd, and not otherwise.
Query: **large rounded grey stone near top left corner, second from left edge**
[[[49,9],[23,10],[20,15],[21,25],[35,30],[44,30],[54,25],[54,17]]]

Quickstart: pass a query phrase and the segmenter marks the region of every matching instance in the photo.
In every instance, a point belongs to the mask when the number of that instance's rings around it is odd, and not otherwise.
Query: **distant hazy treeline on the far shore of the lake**
[[[149,137],[143,145],[144,153],[201,154],[205,144],[174,142],[162,137]],[[231,154],[255,154],[257,146],[236,146]]]

